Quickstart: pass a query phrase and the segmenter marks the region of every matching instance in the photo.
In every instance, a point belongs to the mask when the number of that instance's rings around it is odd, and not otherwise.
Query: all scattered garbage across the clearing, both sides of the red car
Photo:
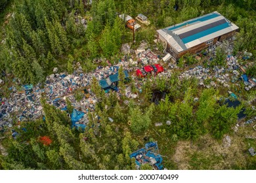
[[[213,52],[215,51],[215,47],[216,46],[213,46],[212,48]],[[84,112],[83,119],[78,120],[75,123],[86,124],[87,120],[85,119],[87,113],[95,110],[95,103],[97,101],[89,87],[93,77],[95,76],[97,80],[102,80],[110,75],[114,75],[117,73],[120,65],[123,65],[125,71],[132,72],[139,69],[139,67],[137,67],[138,64],[150,65],[158,63],[158,61],[160,61],[159,56],[147,48],[148,43],[141,42],[139,48],[135,51],[137,54],[136,59],[133,58],[133,56],[131,56],[131,58],[124,56],[116,65],[109,64],[106,67],[98,66],[95,71],[90,73],[83,73],[81,65],[77,63],[78,68],[72,75],[58,73],[58,68],[54,68],[53,74],[47,76],[43,86],[41,84],[37,84],[36,86],[24,85],[21,87],[22,89],[17,89],[18,87],[15,88],[12,86],[9,88],[9,90],[11,90],[9,99],[0,97],[0,126],[9,125],[15,121],[29,121],[41,118],[41,116],[43,116],[43,108],[40,103],[42,96],[47,99],[47,103],[60,109],[66,107],[65,99],[68,98],[72,105],[74,105],[75,110]],[[230,46],[228,48],[230,48]],[[130,51],[132,52],[132,50]],[[246,53],[246,56],[251,56],[251,54]],[[237,80],[244,81],[245,90],[251,90],[251,88],[255,87],[255,78],[248,78],[246,75],[240,74],[239,69],[241,65],[238,64],[238,58],[228,55],[226,57],[226,63],[228,65],[227,69],[220,67],[209,69],[198,65],[188,71],[182,72],[179,78],[182,80],[183,78],[195,76],[199,79],[200,86],[205,86],[207,88],[217,87],[218,84],[222,84],[224,87],[229,88],[230,82],[236,83]],[[168,67],[169,69],[165,69],[165,71],[159,73],[158,76],[169,78],[172,73],[171,70],[177,68],[177,65],[169,63]],[[150,79],[143,78],[140,80],[134,75],[131,75],[131,78],[135,81],[135,87],[139,93],[142,92],[141,86],[143,85],[144,80]],[[75,99],[74,91],[80,91],[85,88],[87,88],[87,92],[81,100],[77,101]],[[125,95],[129,98],[137,98],[138,92],[132,92],[131,86],[127,86]]]

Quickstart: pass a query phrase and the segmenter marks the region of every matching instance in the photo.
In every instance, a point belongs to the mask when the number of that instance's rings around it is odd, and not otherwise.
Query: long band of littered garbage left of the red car
[[[43,107],[41,107],[40,99],[44,96],[47,103],[54,105],[56,108],[64,109],[66,107],[66,98],[74,105],[77,112],[84,112],[84,117],[81,120],[72,121],[75,124],[86,124],[87,112],[93,112],[97,101],[95,95],[87,87],[91,84],[93,77],[101,80],[109,75],[117,72],[120,65],[123,65],[127,71],[133,71],[133,68],[127,67],[129,63],[122,61],[114,66],[97,67],[95,71],[83,74],[74,72],[72,75],[66,73],[57,73],[58,69],[54,68],[53,74],[47,76],[45,85],[41,84],[24,85],[20,91],[15,87],[10,88],[11,95],[9,99],[0,97],[0,126],[11,125],[13,122],[22,122],[35,120],[43,116]],[[75,90],[88,88],[85,96],[81,101],[75,99]],[[16,120],[13,118],[16,117]],[[80,125],[82,128],[83,125]]]

